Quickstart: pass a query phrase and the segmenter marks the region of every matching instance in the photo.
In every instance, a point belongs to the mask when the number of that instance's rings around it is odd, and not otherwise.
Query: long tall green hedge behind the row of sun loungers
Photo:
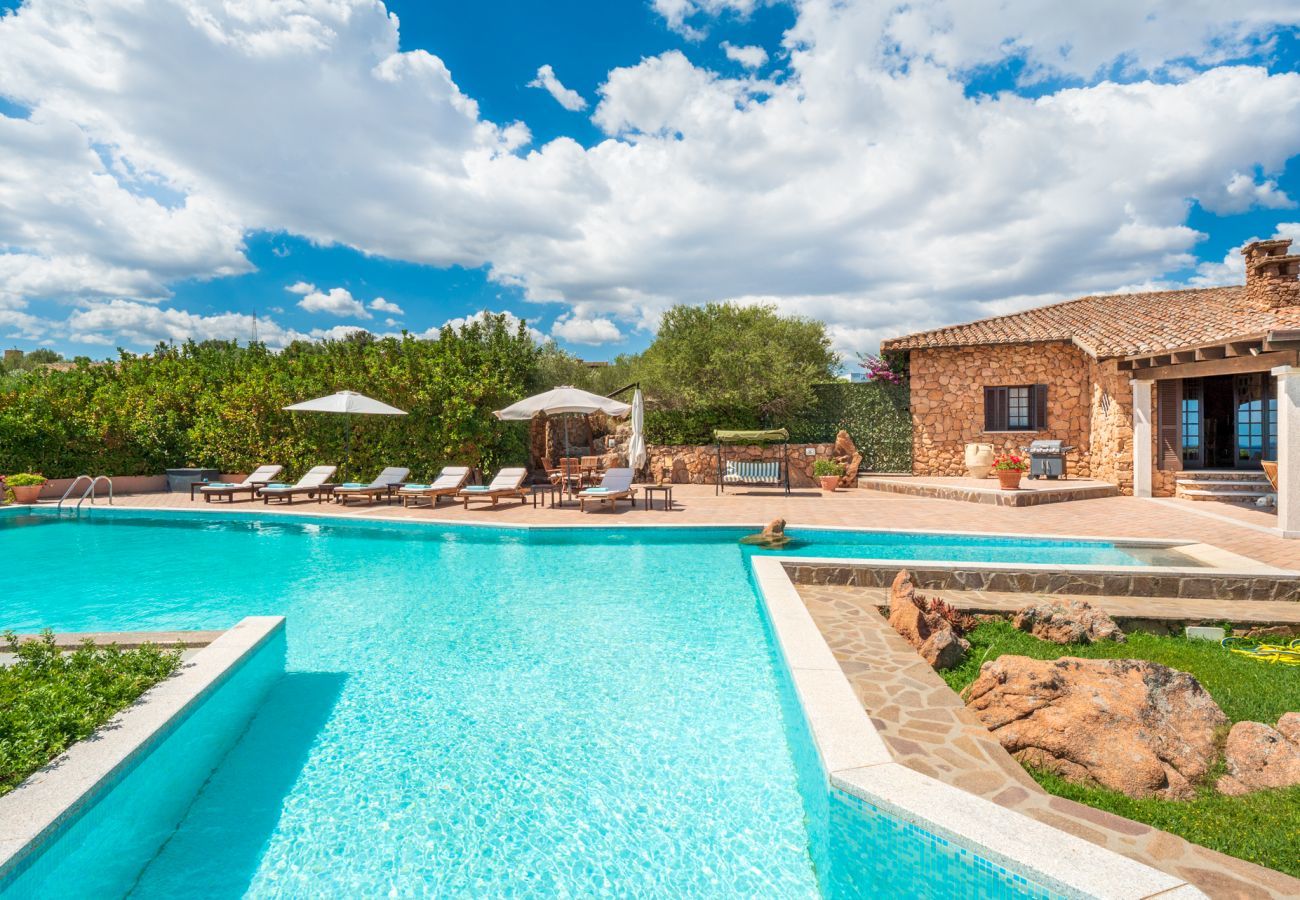
[[[432,477],[443,464],[489,470],[526,459],[526,428],[491,414],[536,389],[538,350],[500,317],[434,341],[413,337],[295,343],[274,354],[228,342],[160,346],[109,364],[6,380],[0,472],[70,477],[155,475],[179,466],[287,477],[343,464],[343,417],[282,407],[359,390],[406,416],[352,416],[350,477],[384,466]]]

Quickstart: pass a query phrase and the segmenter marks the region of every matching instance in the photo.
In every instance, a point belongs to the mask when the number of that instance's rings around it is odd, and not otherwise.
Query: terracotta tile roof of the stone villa
[[[881,350],[1072,341],[1097,359],[1167,352],[1300,328],[1300,307],[1261,311],[1245,287],[1080,297],[1053,306],[884,341]]]

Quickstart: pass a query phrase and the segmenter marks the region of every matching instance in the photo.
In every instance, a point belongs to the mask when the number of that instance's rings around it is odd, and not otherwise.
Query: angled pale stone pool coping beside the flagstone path
[[[758,594],[826,775],[838,789],[1074,897],[1202,897],[1195,886],[893,760],[780,557],[754,557]]]

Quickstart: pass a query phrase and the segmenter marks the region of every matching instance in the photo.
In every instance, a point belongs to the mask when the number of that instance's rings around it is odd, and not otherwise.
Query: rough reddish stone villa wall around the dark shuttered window
[[[1075,450],[1071,476],[1092,475],[1093,360],[1065,341],[914,350],[911,360],[913,471],[966,475],[966,445],[1000,453],[1035,438],[1058,438]],[[984,388],[1048,385],[1048,427],[1041,432],[985,432]]]

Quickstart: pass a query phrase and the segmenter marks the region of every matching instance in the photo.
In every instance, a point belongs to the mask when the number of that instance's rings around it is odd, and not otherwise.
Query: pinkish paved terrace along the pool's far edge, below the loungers
[[[663,525],[663,524],[760,524],[776,516],[790,525],[831,525],[846,528],[892,528],[922,531],[970,531],[1018,533],[1028,536],[1089,536],[1175,538],[1213,544],[1269,566],[1300,568],[1300,541],[1288,541],[1271,532],[1275,516],[1262,510],[1226,503],[1196,503],[1176,499],[1138,499],[1106,497],[1066,503],[1028,507],[987,506],[954,499],[906,497],[876,490],[841,490],[822,494],[818,490],[796,490],[785,497],[779,490],[729,492],[715,496],[711,485],[673,485],[675,509],[664,511],[655,498],[655,509],[646,510],[642,498],[636,509],[620,503],[616,512],[607,507],[580,512],[576,502],[552,509],[533,507],[529,502],[502,503],[497,509],[484,505],[468,510],[446,502],[437,510],[428,506],[372,506],[303,501],[264,506],[261,502],[237,502],[233,510],[290,512],[299,515],[382,516],[425,522],[478,524],[562,524],[562,525]],[[157,493],[120,496],[118,506],[209,509],[221,511],[226,503],[190,501],[187,494]],[[1205,509],[1214,507],[1214,509]]]

